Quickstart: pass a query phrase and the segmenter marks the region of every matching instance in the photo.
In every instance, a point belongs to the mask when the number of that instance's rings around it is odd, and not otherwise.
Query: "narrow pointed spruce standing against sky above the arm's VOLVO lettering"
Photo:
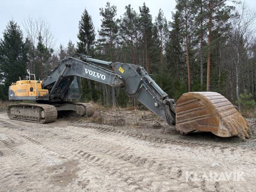
[[[86,9],[84,9],[81,20],[79,21],[77,38],[79,39],[77,42],[77,52],[91,55],[91,48],[95,41],[95,29],[92,17],[88,14]]]

